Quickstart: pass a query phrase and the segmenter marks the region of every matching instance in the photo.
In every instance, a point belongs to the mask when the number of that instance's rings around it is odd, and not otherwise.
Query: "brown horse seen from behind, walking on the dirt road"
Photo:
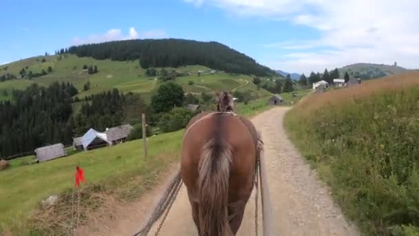
[[[236,235],[254,187],[259,150],[253,124],[232,113],[229,92],[218,112],[203,112],[187,125],[181,174],[198,235]]]

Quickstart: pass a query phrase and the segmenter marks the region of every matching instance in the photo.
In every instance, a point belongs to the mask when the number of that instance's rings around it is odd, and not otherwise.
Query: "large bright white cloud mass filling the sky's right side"
[[[318,30],[308,41],[273,41],[282,55],[263,61],[287,71],[323,71],[356,62],[419,67],[419,1],[185,0],[248,17],[281,19]],[[278,29],[279,30],[279,29]]]

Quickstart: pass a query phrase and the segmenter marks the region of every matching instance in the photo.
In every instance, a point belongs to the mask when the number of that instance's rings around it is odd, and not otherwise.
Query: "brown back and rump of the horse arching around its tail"
[[[253,124],[238,116],[203,112],[187,126],[183,139],[181,170],[185,185],[196,187],[198,165],[203,146],[219,139],[230,148],[229,199],[235,201],[249,195],[253,188],[256,164],[257,132]]]

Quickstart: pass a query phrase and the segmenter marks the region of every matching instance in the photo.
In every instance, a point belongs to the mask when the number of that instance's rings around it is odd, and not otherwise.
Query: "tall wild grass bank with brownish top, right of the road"
[[[366,235],[419,234],[419,72],[309,95],[289,136]]]

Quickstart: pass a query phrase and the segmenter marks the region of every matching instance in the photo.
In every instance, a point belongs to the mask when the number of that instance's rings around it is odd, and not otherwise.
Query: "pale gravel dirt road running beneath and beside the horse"
[[[328,188],[318,180],[316,173],[305,164],[303,157],[287,138],[283,128],[283,117],[288,109],[274,108],[252,119],[265,142],[274,235],[359,235],[356,228],[345,221],[340,209],[334,205]],[[150,200],[150,197],[145,199]],[[150,210],[150,201],[145,204],[147,206],[142,210]],[[136,207],[143,205],[137,204]],[[134,217],[138,219],[138,215]],[[125,224],[122,223],[124,221]],[[116,224],[118,227],[114,230],[107,230],[106,233],[98,235],[125,235],[125,232],[134,232],[139,226],[138,221],[136,224],[134,222],[134,219],[123,219]],[[260,218],[259,222],[259,228],[262,228]],[[155,230],[156,227],[152,228],[149,235],[154,235]],[[160,235],[196,235],[184,186],[167,216]],[[247,203],[245,217],[237,235],[254,235],[254,195]],[[261,230],[259,235],[262,235]]]

